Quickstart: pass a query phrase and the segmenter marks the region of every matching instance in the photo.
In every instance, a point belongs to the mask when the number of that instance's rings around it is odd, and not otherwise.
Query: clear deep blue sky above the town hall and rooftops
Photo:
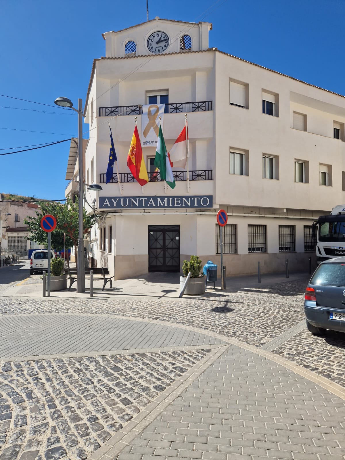
[[[212,22],[210,46],[345,94],[343,0],[149,0],[149,15]],[[146,0],[132,0],[130,8],[118,0],[3,0],[0,93],[50,105],[58,96],[84,103],[92,60],[105,54],[101,34],[145,20]],[[0,153],[77,135],[72,111],[3,96],[0,106]],[[0,156],[0,192],[64,198],[68,154],[65,142]]]

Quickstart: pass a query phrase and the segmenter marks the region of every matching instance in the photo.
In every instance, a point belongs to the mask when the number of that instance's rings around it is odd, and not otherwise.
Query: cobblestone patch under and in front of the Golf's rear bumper
[[[345,334],[327,331],[318,337],[307,330],[299,332],[274,353],[345,387]]]

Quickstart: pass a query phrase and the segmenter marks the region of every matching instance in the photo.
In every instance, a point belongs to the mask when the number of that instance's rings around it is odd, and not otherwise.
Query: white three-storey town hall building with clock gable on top
[[[211,259],[219,264],[216,213],[220,208],[228,213],[229,226],[224,230],[228,275],[254,273],[258,261],[263,272],[283,271],[286,258],[290,268],[306,270],[308,257],[315,256],[312,222],[344,202],[345,98],[209,49],[209,30],[209,23],[156,18],[104,34],[106,56],[93,63],[85,110],[91,130],[85,181],[100,184],[103,190],[87,192],[87,201],[96,199],[97,210],[102,197],[213,199],[212,207],[194,209],[115,209],[111,205],[106,212],[98,209],[101,218],[90,236],[90,264],[108,266],[117,279],[157,269],[149,248],[150,231],[156,232],[157,255],[160,226],[179,226],[179,231],[162,229],[175,232],[168,239],[174,239],[176,250],[179,246],[178,270],[193,254],[203,263]],[[167,49],[157,55],[146,46],[156,31],[169,37]],[[185,35],[190,40],[184,43],[191,43],[191,49],[180,50]],[[128,42],[136,48],[126,54]],[[119,184],[105,184],[108,122],[119,172],[129,173],[127,154],[136,117],[141,132],[138,110],[147,104],[149,94],[162,93],[168,94],[169,104],[183,103],[180,113],[164,115],[168,150],[184,127],[184,114],[188,116],[189,184],[177,180],[175,189],[167,187],[166,192],[163,182],[149,182],[142,188],[122,174],[120,193]],[[176,107],[169,106],[170,112]],[[131,109],[137,115],[125,115]],[[143,154],[147,160],[155,155],[155,148],[143,147]],[[186,172],[179,177],[185,179]],[[176,260],[174,264],[176,269]]]

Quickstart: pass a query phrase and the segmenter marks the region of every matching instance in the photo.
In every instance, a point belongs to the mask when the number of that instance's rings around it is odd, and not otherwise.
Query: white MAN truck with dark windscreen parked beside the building
[[[316,239],[317,264],[345,256],[345,204],[335,206],[328,216],[320,216],[311,231]]]

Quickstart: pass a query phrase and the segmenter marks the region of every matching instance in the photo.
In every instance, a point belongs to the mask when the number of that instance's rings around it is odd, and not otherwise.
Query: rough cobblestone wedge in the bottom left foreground
[[[86,459],[209,351],[2,363],[0,459]]]

